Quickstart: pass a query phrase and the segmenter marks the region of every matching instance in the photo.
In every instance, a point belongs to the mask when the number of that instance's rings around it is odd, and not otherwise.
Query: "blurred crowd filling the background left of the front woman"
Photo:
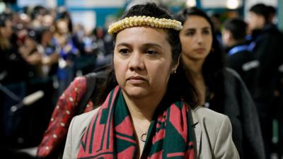
[[[1,147],[37,146],[59,95],[76,76],[107,65],[111,49],[104,28],[74,25],[64,8],[1,13]]]

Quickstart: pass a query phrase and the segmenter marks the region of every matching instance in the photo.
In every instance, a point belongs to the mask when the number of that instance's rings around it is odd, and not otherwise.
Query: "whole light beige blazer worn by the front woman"
[[[100,107],[81,114],[71,120],[63,159],[76,158],[81,137],[90,124],[93,115]],[[195,130],[196,158],[238,159],[238,151],[232,140],[232,128],[229,118],[205,107],[192,110],[192,127]]]

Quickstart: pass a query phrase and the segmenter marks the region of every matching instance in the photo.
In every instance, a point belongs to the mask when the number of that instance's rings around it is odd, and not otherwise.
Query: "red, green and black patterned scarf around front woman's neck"
[[[190,107],[175,102],[152,120],[141,158],[195,158]],[[137,158],[137,139],[117,86],[81,139],[77,158]]]

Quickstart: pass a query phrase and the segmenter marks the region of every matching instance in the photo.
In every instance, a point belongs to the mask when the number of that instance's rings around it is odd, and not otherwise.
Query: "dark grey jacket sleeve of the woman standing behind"
[[[224,112],[232,124],[233,141],[242,159],[264,159],[258,112],[246,85],[232,69],[224,69]]]

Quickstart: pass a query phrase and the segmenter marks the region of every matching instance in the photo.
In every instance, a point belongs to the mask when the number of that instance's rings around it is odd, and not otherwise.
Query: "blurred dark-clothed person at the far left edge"
[[[15,153],[23,143],[23,109],[20,107],[26,93],[28,63],[18,52],[13,35],[11,15],[0,14],[0,151],[3,155]]]

